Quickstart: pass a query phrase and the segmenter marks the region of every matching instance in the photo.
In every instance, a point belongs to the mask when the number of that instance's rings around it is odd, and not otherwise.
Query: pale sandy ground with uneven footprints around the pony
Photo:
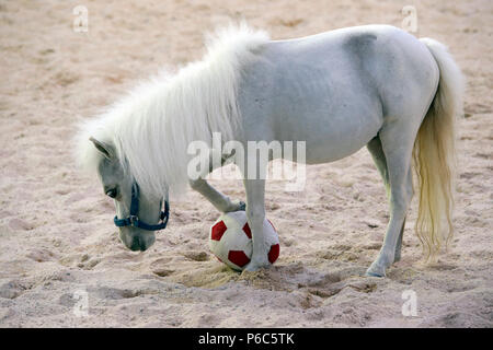
[[[72,9],[89,9],[89,32]],[[368,152],[308,167],[303,192],[267,184],[280,236],[275,267],[240,275],[208,252],[218,217],[190,194],[145,253],[124,248],[113,203],[80,174],[70,139],[160,67],[199,58],[203,33],[244,18],[273,38],[368,23],[401,25],[450,46],[468,79],[460,120],[456,237],[438,262],[421,262],[413,232],[388,278],[362,277],[388,221]],[[0,1],[0,326],[2,327],[492,327],[493,3],[468,1]],[[240,182],[214,182],[244,198]],[[417,315],[403,316],[403,291]],[[78,299],[78,295],[82,295]],[[88,315],[74,313],[88,296]],[[79,316],[78,316],[79,315]]]

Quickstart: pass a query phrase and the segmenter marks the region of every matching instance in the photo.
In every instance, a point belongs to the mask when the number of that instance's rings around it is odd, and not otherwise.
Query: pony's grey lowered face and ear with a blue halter
[[[115,201],[115,224],[119,238],[131,250],[146,250],[156,241],[154,231],[165,228],[169,215],[168,202],[161,211],[162,200],[139,191],[139,187],[122,161],[115,147],[90,138],[100,156],[96,171],[103,191]]]

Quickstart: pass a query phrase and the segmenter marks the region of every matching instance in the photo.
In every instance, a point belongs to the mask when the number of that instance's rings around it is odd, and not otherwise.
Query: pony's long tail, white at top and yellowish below
[[[462,114],[463,80],[459,67],[443,44],[420,39],[439,68],[438,89],[414,143],[414,168],[420,185],[416,234],[426,260],[435,260],[444,242],[454,235],[456,116]]]

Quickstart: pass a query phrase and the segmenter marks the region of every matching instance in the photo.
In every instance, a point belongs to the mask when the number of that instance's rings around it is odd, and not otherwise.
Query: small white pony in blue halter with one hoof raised
[[[243,144],[305,141],[307,164],[332,162],[367,145],[390,202],[383,245],[367,275],[385,276],[401,255],[413,158],[420,185],[416,232],[427,257],[452,233],[455,117],[461,101],[461,73],[446,47],[393,26],[288,40],[231,26],[209,40],[202,61],[144,84],[83,126],[78,151],[115,199],[124,244],[145,250],[154,242],[153,231],[165,226],[170,190],[182,191],[190,183],[221,212],[244,209],[204,178],[190,179],[192,141],[211,147],[213,132]],[[228,160],[237,161],[222,154]],[[253,237],[248,270],[270,266],[263,178],[244,179]]]

